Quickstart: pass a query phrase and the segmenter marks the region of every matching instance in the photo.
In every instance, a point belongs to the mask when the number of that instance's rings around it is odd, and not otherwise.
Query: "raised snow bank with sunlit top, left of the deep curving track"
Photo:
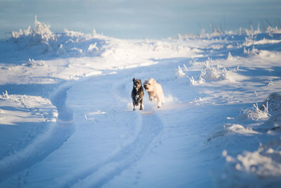
[[[14,166],[25,165],[32,153],[37,153],[55,129],[58,111],[41,96],[3,94],[1,115],[1,180],[15,172]],[[15,126],[15,128],[11,128]],[[11,131],[17,129],[18,131]],[[7,134],[8,133],[8,134]],[[15,139],[16,138],[16,139]]]

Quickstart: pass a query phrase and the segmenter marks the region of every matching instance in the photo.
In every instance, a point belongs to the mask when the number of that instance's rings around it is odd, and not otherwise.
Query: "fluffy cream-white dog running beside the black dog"
[[[143,83],[143,87],[145,88],[145,92],[148,92],[150,101],[157,100],[157,107],[161,108],[162,101],[164,100],[164,94],[161,84],[157,83],[153,78],[150,78],[150,80],[145,80],[145,82]]]

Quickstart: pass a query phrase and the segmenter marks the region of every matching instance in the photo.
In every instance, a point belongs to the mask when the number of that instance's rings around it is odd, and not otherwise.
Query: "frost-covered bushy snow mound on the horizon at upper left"
[[[34,25],[27,30],[13,31],[10,41],[17,44],[18,49],[31,49],[37,55],[51,54],[55,56],[98,56],[103,50],[105,37],[98,35],[96,30],[90,35],[73,32],[67,29],[63,33],[54,34],[50,25],[41,23],[35,16]]]

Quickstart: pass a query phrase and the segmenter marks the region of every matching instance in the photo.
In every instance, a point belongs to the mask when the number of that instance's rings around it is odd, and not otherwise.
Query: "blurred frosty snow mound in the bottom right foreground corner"
[[[281,176],[280,139],[256,151],[244,151],[237,157],[226,150],[223,157],[228,161],[228,174],[220,182],[221,187],[278,187]]]

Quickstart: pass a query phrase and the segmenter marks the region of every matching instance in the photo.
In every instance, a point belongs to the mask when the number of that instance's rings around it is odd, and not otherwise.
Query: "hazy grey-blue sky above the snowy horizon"
[[[0,38],[38,20],[51,31],[93,29],[124,39],[197,35],[218,27],[281,27],[280,0],[0,0]]]

